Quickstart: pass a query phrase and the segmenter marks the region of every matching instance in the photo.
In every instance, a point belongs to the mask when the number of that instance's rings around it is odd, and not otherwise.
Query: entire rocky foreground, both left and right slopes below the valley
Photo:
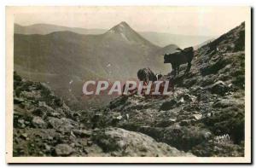
[[[245,24],[195,51],[171,96],[72,111],[15,74],[15,156],[243,156]],[[170,77],[170,75],[167,75]]]

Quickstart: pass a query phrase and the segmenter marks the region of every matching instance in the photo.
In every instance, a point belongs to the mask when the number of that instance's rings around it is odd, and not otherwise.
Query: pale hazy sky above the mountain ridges
[[[248,11],[244,7],[32,7],[20,9],[15,23],[109,29],[126,21],[140,32],[218,36],[240,25]]]

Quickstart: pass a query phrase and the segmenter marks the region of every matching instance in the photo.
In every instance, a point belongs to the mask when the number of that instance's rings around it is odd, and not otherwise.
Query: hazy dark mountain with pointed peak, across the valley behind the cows
[[[88,100],[81,96],[86,80],[136,78],[142,67],[169,71],[157,53],[160,47],[142,38],[125,22],[100,35],[15,34],[14,44],[15,71],[49,83],[67,102],[84,107],[88,107]]]

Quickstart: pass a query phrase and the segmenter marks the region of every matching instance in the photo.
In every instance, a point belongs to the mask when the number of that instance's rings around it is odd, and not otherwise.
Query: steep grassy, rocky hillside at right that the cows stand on
[[[245,23],[195,51],[170,96],[120,96],[92,115],[201,157],[244,156]],[[121,116],[116,119],[115,116]]]

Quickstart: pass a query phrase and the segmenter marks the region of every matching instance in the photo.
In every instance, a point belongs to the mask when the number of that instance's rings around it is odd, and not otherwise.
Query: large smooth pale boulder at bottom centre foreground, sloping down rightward
[[[93,140],[105,153],[115,156],[193,156],[166,143],[156,142],[150,136],[119,128],[99,130],[93,134]]]

